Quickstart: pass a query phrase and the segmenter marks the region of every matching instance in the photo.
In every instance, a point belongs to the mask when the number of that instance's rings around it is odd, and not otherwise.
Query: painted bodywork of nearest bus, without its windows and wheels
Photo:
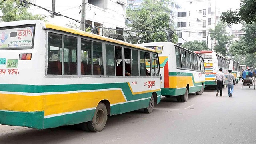
[[[53,128],[92,120],[102,100],[109,102],[110,115],[146,108],[152,94],[156,97],[155,102],[160,102],[159,77],[46,75],[48,46],[45,23],[29,20],[1,24],[1,27],[35,24],[35,31],[33,49],[0,50],[0,58],[6,58],[6,64],[0,65],[0,124]],[[72,29],[67,28],[66,32],[72,35]],[[119,42],[110,38],[104,40],[114,44]],[[120,44],[125,46],[126,43]],[[152,52],[128,43],[127,46]],[[19,55],[26,53],[32,53],[31,60],[19,60]],[[18,60],[17,68],[6,68],[9,59]],[[18,70],[17,73],[12,69]],[[5,74],[3,70],[6,70]]]

